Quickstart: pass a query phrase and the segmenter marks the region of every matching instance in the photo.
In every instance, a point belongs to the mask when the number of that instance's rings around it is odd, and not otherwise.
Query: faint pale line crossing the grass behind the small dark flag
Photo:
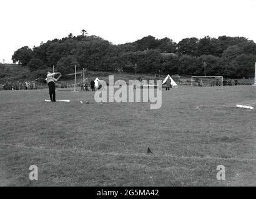
[[[239,162],[256,162],[256,159],[242,159],[240,157],[213,157],[213,156],[179,156],[179,155],[172,155],[172,154],[154,154],[154,155],[148,155],[145,153],[119,153],[119,152],[98,152],[98,151],[92,151],[87,149],[81,149],[81,148],[69,148],[69,149],[46,149],[44,147],[27,147],[23,146],[21,144],[15,145],[15,144],[0,144],[0,146],[11,146],[16,148],[23,148],[23,149],[33,149],[33,150],[46,150],[50,152],[73,152],[73,153],[84,153],[84,154],[96,154],[96,155],[113,155],[113,156],[135,156],[135,157],[170,157],[170,158],[176,158],[176,159],[192,159],[192,160],[234,160]]]

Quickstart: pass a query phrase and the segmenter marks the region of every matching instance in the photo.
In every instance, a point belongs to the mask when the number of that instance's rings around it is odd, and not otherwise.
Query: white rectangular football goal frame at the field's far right
[[[191,86],[223,86],[223,76],[191,76]]]

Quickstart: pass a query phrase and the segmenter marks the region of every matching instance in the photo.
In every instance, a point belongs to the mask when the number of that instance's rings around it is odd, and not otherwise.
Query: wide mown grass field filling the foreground
[[[71,103],[45,103],[47,90],[0,91],[0,185],[255,186],[256,112],[235,108],[255,96],[254,86],[180,86],[153,110],[95,103],[91,91],[57,92]]]

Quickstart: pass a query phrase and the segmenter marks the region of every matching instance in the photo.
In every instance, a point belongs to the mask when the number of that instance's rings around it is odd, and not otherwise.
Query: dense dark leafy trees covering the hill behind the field
[[[12,55],[14,63],[31,72],[45,75],[52,65],[63,74],[78,70],[179,75],[223,75],[229,78],[254,76],[256,44],[245,37],[205,36],[185,38],[175,43],[172,39],[155,39],[149,35],[135,42],[114,45],[96,35],[69,34],[62,39],[41,42],[30,49],[22,47]]]

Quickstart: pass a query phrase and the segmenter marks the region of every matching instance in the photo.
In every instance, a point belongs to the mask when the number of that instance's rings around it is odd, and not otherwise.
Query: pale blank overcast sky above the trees
[[[69,33],[97,35],[113,44],[147,35],[179,42],[205,35],[256,42],[256,0],[1,0],[0,62],[15,50]]]

